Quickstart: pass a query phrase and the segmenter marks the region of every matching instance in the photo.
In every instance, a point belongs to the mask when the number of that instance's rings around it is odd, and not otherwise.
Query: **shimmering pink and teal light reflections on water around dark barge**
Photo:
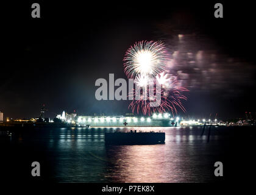
[[[162,130],[166,132],[166,143],[148,146],[105,146],[104,132],[107,129],[109,132],[115,131],[111,127],[80,131],[68,129],[64,132],[61,130],[59,134],[51,135],[48,147],[51,150],[58,148],[63,151],[60,152],[62,159],[71,162],[75,159],[83,170],[87,169],[82,166],[86,163],[101,166],[104,171],[98,170],[99,175],[104,176],[107,182],[190,182],[199,178],[202,172],[205,174],[202,169],[199,169],[198,174],[197,170],[191,169],[191,161],[200,163],[201,154],[206,151],[206,147],[201,147],[201,144],[206,144],[207,136],[201,137],[201,130],[190,130],[189,127],[133,127],[143,131]],[[130,129],[123,127],[123,131]],[[59,140],[55,138],[56,135]],[[213,135],[211,140],[213,139],[218,139],[218,136]],[[93,155],[88,155],[88,152]],[[62,172],[68,171],[63,161],[58,163]],[[80,172],[75,173],[76,176],[79,174]],[[81,180],[84,177],[81,176]]]

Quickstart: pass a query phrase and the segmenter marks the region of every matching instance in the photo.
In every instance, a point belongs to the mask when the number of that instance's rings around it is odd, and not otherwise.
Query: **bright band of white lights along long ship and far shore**
[[[170,113],[154,113],[152,116],[77,116],[66,114],[65,111],[57,118],[62,122],[77,127],[179,127],[179,126],[226,126],[226,122],[218,119],[184,119],[173,117]],[[53,121],[52,121],[53,122]]]

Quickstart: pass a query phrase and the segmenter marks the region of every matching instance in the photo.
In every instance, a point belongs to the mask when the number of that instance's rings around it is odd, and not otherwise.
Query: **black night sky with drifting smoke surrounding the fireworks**
[[[180,116],[221,118],[255,112],[254,9],[224,2],[224,18],[213,2],[31,2],[1,5],[0,110],[30,118],[46,104],[46,116],[124,114],[129,101],[97,101],[96,79],[124,78],[123,57],[141,40],[161,40],[169,49],[169,73],[190,92]],[[182,35],[179,38],[178,35]]]

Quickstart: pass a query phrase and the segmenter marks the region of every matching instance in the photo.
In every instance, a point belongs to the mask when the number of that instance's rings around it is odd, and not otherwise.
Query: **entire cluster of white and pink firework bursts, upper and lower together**
[[[178,107],[185,112],[182,100],[187,98],[182,93],[188,90],[179,87],[177,79],[171,74],[166,74],[169,60],[165,44],[157,41],[139,41],[127,50],[124,57],[124,73],[128,78],[135,79],[135,84],[140,88],[137,98],[134,98],[134,95],[136,96],[138,91],[133,89],[129,93],[133,99],[129,108],[133,113],[152,115],[154,112],[171,111],[174,115],[177,114]],[[159,85],[161,87],[157,90]],[[149,96],[149,86],[153,87],[154,94],[160,94],[160,98]],[[154,107],[152,103],[158,106]]]

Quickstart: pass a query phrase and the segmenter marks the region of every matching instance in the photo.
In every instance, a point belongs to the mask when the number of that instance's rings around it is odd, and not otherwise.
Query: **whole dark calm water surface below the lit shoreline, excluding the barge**
[[[214,182],[214,163],[230,159],[227,127],[212,127],[209,142],[201,127],[136,129],[162,130],[165,144],[106,146],[104,132],[130,129],[59,128],[16,133],[2,145],[10,166],[18,161],[17,169],[31,169],[39,161],[42,178],[54,182]],[[18,174],[29,177],[24,172]]]

